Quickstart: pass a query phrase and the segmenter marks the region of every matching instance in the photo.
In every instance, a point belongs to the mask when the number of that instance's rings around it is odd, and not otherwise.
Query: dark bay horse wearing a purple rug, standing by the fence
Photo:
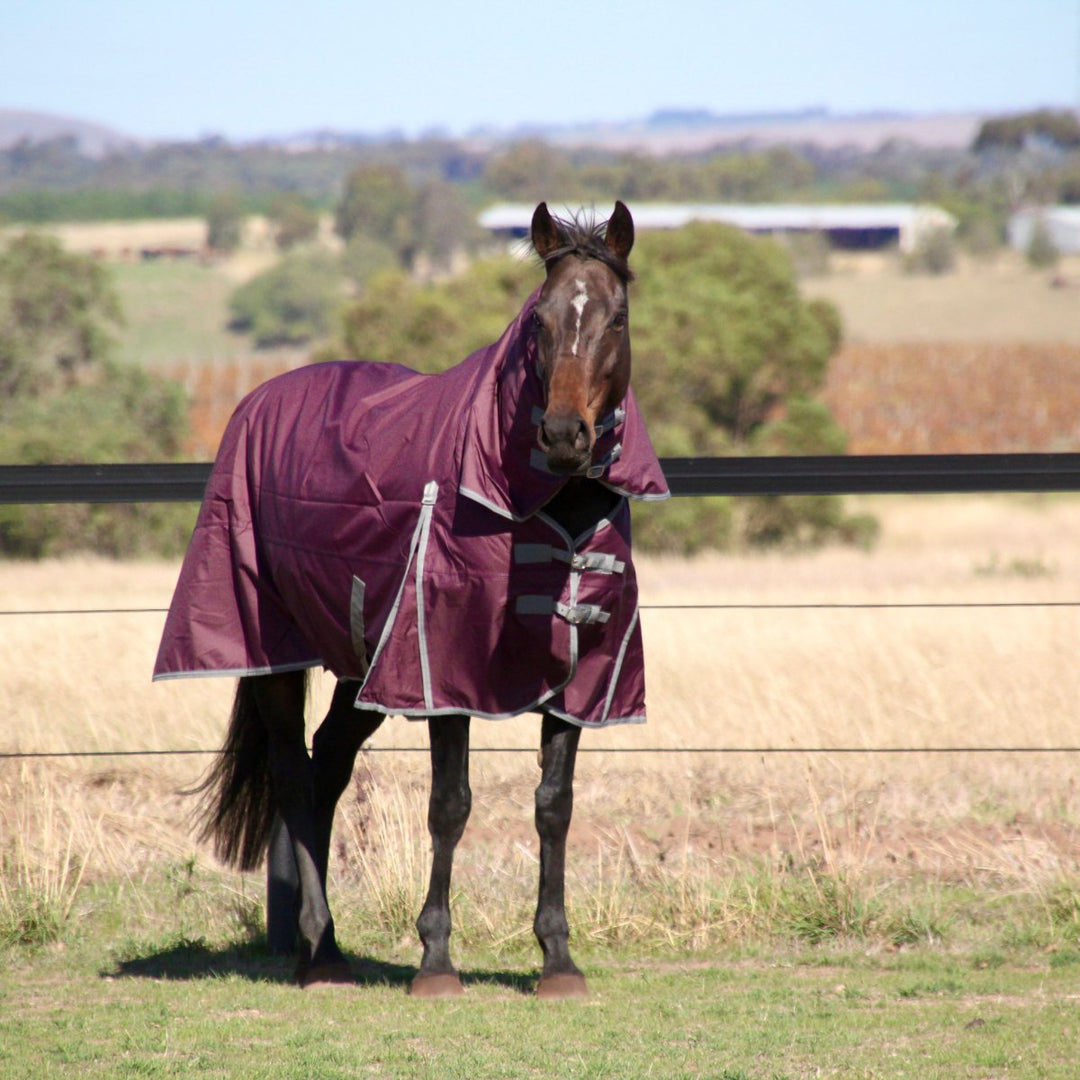
[[[314,364],[269,380],[221,441],[154,678],[239,675],[195,789],[240,869],[275,815],[299,879],[300,986],[351,980],[326,897],[330,831],[386,715],[427,718],[431,878],[410,993],[463,991],[450,873],[471,808],[473,716],[541,714],[542,998],[588,986],[569,950],[567,831],[582,728],[645,719],[629,499],[669,496],[630,389],[633,218],[534,213],[542,285],[503,336],[440,375]],[[338,679],[309,755],[306,679]]]

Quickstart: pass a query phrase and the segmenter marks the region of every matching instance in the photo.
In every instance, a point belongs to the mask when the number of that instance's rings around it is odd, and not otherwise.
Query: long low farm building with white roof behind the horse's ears
[[[559,204],[552,203],[555,210]],[[572,203],[567,204],[572,208]],[[505,240],[529,233],[532,205],[499,203],[480,216],[481,227]],[[794,204],[794,203],[634,203],[634,225],[649,229],[679,229],[690,221],[723,221],[759,234],[823,233],[834,247],[873,249],[899,246],[912,252],[927,235],[956,229],[956,218],[937,206],[913,203]]]

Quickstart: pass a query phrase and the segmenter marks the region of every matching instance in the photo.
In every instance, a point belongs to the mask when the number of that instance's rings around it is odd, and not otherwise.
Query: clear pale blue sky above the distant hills
[[[135,136],[1080,106],[1080,0],[14,0],[0,107]]]

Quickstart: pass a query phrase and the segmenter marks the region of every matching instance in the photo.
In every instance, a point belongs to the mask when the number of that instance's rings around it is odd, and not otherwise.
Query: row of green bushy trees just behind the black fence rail
[[[719,225],[646,233],[635,249],[634,384],[662,455],[842,453],[819,401],[839,318],[805,301],[787,253]],[[531,261],[475,260],[422,284],[392,266],[339,311],[314,359],[437,372],[494,340],[542,280]],[[168,460],[180,451],[179,387],[111,359],[122,312],[108,270],[28,232],[0,248],[0,460]],[[175,552],[188,508],[0,508],[0,551]],[[693,499],[646,509],[643,546],[868,542],[873,523],[840,500]]]

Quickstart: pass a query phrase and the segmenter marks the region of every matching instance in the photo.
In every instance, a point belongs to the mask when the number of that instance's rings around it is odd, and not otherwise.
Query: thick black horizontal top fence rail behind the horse
[[[1080,491],[1080,454],[662,458],[672,495]],[[0,503],[191,502],[208,462],[0,465]]]

